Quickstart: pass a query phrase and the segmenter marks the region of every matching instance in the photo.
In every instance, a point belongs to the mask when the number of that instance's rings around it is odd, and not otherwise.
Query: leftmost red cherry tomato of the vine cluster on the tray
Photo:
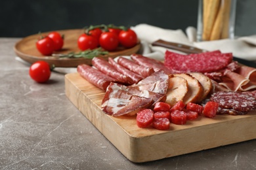
[[[77,40],[77,45],[80,50],[88,50],[88,49],[95,49],[98,47],[98,40],[96,37],[93,37],[92,35],[87,35],[83,33],[79,36]]]

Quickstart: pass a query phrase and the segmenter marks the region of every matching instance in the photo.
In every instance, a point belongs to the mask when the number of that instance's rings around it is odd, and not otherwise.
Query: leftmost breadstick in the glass
[[[215,22],[221,0],[208,0],[204,2],[207,2],[207,9],[205,11],[205,16],[203,16],[206,23],[203,26],[202,37],[203,41],[208,41],[211,36],[211,30],[213,29],[213,24]]]

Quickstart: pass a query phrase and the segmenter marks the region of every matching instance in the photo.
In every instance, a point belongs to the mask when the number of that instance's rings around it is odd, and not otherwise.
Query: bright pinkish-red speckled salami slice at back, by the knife
[[[220,54],[218,51],[182,55],[167,50],[164,65],[176,73],[209,73],[223,69],[231,61],[230,54]]]

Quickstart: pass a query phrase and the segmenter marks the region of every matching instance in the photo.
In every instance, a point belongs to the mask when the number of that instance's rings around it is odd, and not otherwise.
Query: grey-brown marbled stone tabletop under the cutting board
[[[33,82],[28,65],[16,60],[18,40],[0,38],[0,169],[256,169],[256,140],[127,160],[68,100],[64,74]]]

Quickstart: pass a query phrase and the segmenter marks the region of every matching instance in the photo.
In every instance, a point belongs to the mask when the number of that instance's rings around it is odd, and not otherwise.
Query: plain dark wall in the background
[[[256,1],[238,0],[236,35],[256,33]],[[198,0],[1,0],[0,37],[87,25],[137,25],[168,29],[196,27]]]

